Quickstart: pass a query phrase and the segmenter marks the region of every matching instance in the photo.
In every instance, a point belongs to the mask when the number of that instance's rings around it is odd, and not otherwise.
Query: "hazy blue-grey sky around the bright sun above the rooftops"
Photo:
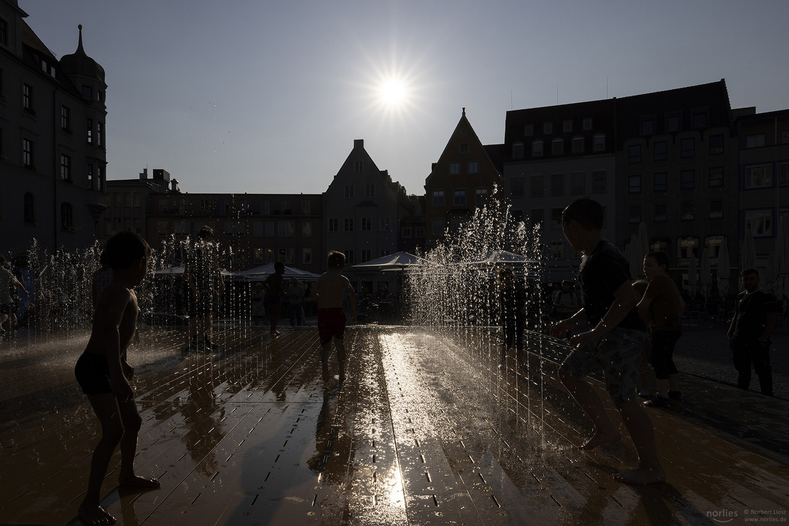
[[[185,192],[326,190],[353,147],[424,193],[462,106],[507,110],[725,78],[732,107],[789,107],[787,0],[19,0],[59,57],[107,72],[107,177]],[[381,102],[387,80],[405,90]],[[149,170],[149,173],[151,172]]]

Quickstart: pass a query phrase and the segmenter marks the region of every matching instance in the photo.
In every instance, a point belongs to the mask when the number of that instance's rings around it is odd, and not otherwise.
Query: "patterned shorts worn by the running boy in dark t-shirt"
[[[571,375],[584,379],[593,367],[603,367],[605,386],[615,404],[636,397],[638,385],[638,357],[647,334],[643,330],[616,327],[596,344],[573,349],[562,368]]]

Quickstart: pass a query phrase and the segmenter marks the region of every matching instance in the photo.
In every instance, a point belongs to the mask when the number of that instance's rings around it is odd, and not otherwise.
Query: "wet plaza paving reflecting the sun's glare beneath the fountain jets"
[[[163,487],[119,491],[114,457],[103,505],[119,524],[787,518],[787,401],[687,375],[685,401],[649,412],[667,483],[634,488],[611,478],[634,465],[629,439],[574,447],[591,423],[555,378],[568,349],[553,338],[529,334],[502,371],[482,330],[353,326],[349,379],[324,391],[314,328],[219,331],[216,353],[181,353],[181,328],[144,329],[129,350],[136,468]],[[85,341],[0,346],[0,522],[76,520],[98,440],[73,381]]]

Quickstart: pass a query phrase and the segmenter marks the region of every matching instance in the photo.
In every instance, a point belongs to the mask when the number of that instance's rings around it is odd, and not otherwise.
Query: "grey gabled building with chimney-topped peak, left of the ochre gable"
[[[353,265],[398,252],[398,226],[406,215],[413,215],[406,188],[392,181],[387,170],[378,169],[364,140],[354,140],[353,150],[323,193],[321,267],[326,267],[328,251],[344,252],[345,274],[354,289],[363,294],[394,290],[394,273],[373,275]]]

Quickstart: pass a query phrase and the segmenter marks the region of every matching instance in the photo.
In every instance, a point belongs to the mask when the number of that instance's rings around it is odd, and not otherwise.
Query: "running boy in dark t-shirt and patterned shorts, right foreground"
[[[556,323],[551,332],[560,338],[585,321],[593,328],[570,339],[575,349],[559,367],[559,379],[592,419],[595,433],[580,449],[593,450],[622,439],[596,390],[584,381],[593,366],[603,366],[608,394],[638,453],[638,466],[614,478],[628,484],[658,483],[666,474],[660,466],[652,422],[636,398],[638,356],[646,326],[634,308],[630,265],[622,252],[603,239],[603,217],[603,207],[589,197],[574,200],[562,212],[564,237],[573,250],[584,253],[578,270],[581,310]]]

